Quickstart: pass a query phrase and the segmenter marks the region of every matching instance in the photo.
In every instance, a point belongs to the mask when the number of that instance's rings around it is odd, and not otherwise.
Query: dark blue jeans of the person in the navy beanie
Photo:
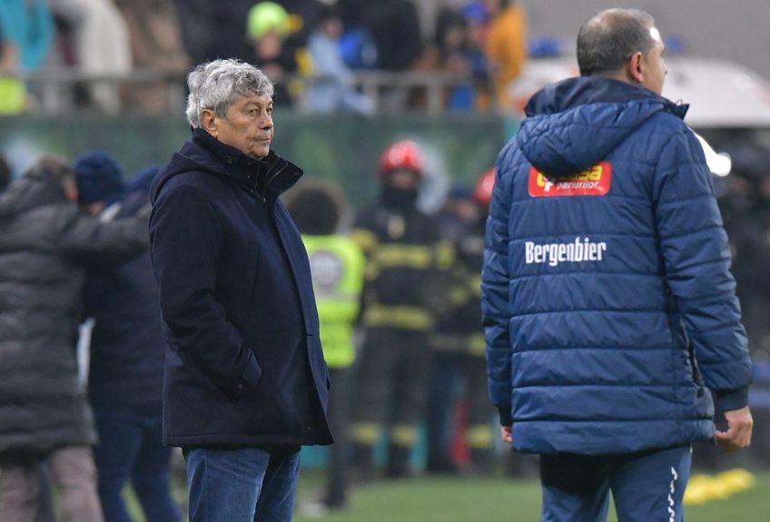
[[[179,507],[170,494],[172,450],[163,446],[162,414],[161,403],[94,407],[99,430],[94,458],[105,520],[132,522],[121,496],[130,478],[148,520],[179,521]]]

